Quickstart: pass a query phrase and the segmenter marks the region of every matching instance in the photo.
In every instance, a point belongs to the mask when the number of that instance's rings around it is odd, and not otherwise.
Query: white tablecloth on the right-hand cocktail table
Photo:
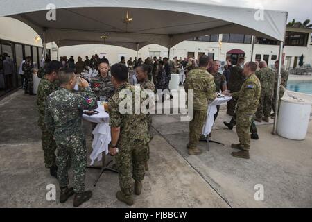
[[[207,109],[207,119],[204,128],[202,128],[202,135],[209,135],[212,130],[212,126],[214,126],[214,114],[217,112],[217,105],[221,105],[222,103],[227,103],[230,101],[232,97],[225,96],[223,98],[217,98],[212,103],[208,105]]]

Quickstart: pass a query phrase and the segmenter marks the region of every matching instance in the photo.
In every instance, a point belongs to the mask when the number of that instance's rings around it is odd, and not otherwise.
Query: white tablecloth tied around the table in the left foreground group
[[[91,165],[94,164],[95,160],[102,160],[102,153],[104,151],[106,155],[108,154],[108,144],[110,144],[111,139],[110,126],[108,124],[110,121],[110,117],[108,116],[108,113],[105,112],[103,105],[100,105],[100,102],[98,102],[98,108],[96,109],[96,111],[98,111],[99,113],[93,116],[83,114],[83,119],[92,123],[98,123],[96,128],[94,128],[94,130],[92,131],[94,139],[92,142],[93,151],[90,155]]]

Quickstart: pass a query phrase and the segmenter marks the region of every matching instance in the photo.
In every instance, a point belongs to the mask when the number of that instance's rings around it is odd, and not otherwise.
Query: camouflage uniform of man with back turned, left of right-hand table
[[[214,76],[203,67],[193,69],[185,80],[184,89],[188,92],[193,89],[193,119],[189,123],[189,144],[187,148],[197,148],[198,140],[202,133],[202,127],[207,118],[207,108],[211,101],[216,99],[216,84]]]

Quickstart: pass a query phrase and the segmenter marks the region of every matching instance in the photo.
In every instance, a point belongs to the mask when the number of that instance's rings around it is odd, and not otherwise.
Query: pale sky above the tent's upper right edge
[[[189,0],[177,0],[189,1]],[[311,19],[312,23],[312,0],[193,0],[198,3],[216,3],[228,6],[246,8],[264,8],[267,10],[280,10],[288,12],[288,22],[295,19],[304,22]]]

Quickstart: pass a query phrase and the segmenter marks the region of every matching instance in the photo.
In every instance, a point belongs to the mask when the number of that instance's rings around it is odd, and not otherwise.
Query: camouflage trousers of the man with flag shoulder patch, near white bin
[[[239,143],[244,150],[248,151],[250,149],[250,125],[252,123],[253,115],[236,113],[236,133],[239,137]]]

